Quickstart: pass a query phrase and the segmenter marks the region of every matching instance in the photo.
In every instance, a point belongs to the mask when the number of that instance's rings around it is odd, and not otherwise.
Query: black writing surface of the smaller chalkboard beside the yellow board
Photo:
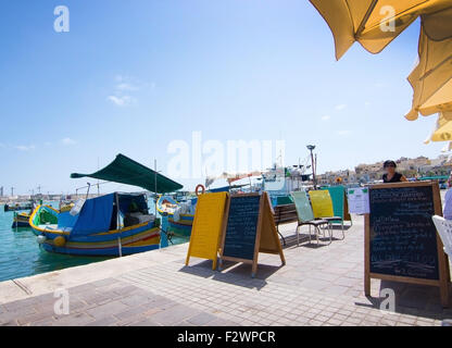
[[[261,196],[233,196],[226,226],[223,256],[254,259]]]

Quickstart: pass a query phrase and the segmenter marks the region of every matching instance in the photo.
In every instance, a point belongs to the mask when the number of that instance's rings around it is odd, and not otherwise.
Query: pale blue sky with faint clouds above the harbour
[[[7,4],[8,3],[8,4]],[[55,33],[53,9],[70,9]],[[117,153],[167,172],[172,140],[284,139],[286,164],[318,171],[437,157],[435,116],[406,121],[418,23],[382,53],[335,60],[300,0],[15,0],[0,21],[0,186],[71,192]],[[192,189],[200,178],[179,179]],[[106,185],[105,191],[125,189]]]

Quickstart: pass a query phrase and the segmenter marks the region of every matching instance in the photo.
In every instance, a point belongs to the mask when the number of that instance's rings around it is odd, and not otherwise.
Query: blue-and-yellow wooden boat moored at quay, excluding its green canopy
[[[35,209],[29,224],[45,250],[125,256],[167,246],[166,238],[161,240],[160,220],[148,213],[143,194],[115,192],[87,199],[79,206],[61,212],[48,206]]]

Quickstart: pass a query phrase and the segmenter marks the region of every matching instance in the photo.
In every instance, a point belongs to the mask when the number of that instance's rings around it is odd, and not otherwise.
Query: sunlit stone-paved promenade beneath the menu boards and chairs
[[[187,245],[0,283],[0,325],[440,325],[452,310],[435,287],[372,281],[363,295],[363,219],[319,247],[294,244],[286,225],[286,266],[261,254],[250,265],[191,259]],[[307,228],[307,227],[306,227]],[[306,232],[305,229],[303,229]],[[304,236],[305,237],[305,236]],[[55,315],[53,291],[66,288],[68,315]],[[392,288],[395,313],[379,310]]]

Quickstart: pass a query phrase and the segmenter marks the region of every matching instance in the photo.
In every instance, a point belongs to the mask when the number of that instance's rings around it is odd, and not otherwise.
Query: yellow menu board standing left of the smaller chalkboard
[[[186,265],[194,257],[212,260],[212,269],[216,269],[227,196],[227,192],[215,192],[198,198]]]

